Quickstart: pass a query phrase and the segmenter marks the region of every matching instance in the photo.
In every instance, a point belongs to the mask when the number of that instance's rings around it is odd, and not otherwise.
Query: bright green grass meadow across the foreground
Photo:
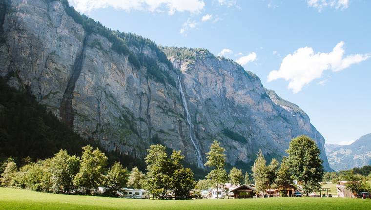
[[[0,210],[367,210],[371,199],[264,198],[203,200],[135,200],[59,195],[0,188]]]

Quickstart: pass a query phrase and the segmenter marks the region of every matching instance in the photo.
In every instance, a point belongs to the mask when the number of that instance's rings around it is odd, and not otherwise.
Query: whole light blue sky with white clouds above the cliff
[[[370,0],[69,0],[157,44],[240,63],[299,105],[328,144],[371,133]]]

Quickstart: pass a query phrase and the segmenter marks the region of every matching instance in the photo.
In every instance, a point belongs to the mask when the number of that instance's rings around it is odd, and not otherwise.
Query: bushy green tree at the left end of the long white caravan
[[[126,187],[128,179],[128,171],[119,162],[115,162],[111,168],[108,169],[104,177],[105,194],[117,197],[117,192]]]

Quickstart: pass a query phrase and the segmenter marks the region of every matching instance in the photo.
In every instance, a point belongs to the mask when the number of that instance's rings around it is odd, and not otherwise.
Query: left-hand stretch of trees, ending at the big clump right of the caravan
[[[152,145],[145,157],[147,173],[137,167],[131,172],[119,162],[107,168],[107,156],[91,146],[82,147],[82,156],[69,155],[61,149],[52,158],[28,162],[18,167],[12,158],[1,166],[1,186],[35,191],[100,195],[98,187],[103,187],[105,196],[117,197],[124,187],[147,189],[154,198],[189,198],[189,191],[195,181],[190,168],[184,168],[181,151],[173,150],[170,157],[166,147]],[[28,159],[29,160],[29,159]]]

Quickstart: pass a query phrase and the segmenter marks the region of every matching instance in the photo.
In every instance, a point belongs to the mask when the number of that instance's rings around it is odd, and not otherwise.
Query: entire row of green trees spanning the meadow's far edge
[[[206,153],[205,166],[210,172],[206,179],[195,182],[192,170],[183,166],[184,156],[180,150],[168,155],[165,146],[151,145],[144,158],[146,173],[143,173],[136,167],[129,172],[119,162],[107,168],[108,158],[104,152],[88,145],[82,147],[81,157],[61,149],[52,158],[28,160],[21,167],[9,158],[2,165],[1,185],[65,194],[96,194],[102,186],[103,195],[107,196],[117,196],[124,187],[143,188],[157,199],[188,199],[192,189],[221,187],[223,190],[227,182],[240,185],[252,181],[263,196],[270,188],[280,189],[285,196],[289,189],[296,189],[293,179],[298,180],[307,194],[318,190],[323,168],[315,142],[307,136],[299,136],[290,142],[287,153],[281,164],[272,159],[267,165],[260,150],[251,168],[250,180],[249,174],[244,176],[239,168],[232,168],[227,174],[225,149],[214,141]]]

